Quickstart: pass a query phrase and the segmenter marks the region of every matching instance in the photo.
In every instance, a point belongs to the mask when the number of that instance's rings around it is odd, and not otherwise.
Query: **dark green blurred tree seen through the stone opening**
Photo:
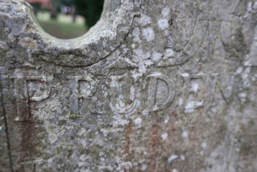
[[[88,28],[100,19],[104,0],[74,0],[78,14],[84,16]]]

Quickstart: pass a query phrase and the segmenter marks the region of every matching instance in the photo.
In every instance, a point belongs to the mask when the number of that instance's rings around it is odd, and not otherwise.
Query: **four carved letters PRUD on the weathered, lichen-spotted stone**
[[[21,74],[11,78],[14,79],[16,97],[17,117],[15,120],[28,121],[31,116],[30,103],[45,100],[50,96],[51,90],[48,82],[53,77]],[[140,106],[142,113],[148,114],[167,108],[175,96],[174,82],[160,73],[146,77],[137,74],[111,76],[106,79],[107,90],[105,92],[97,92],[98,89],[102,90],[104,87],[98,86],[100,82],[93,76],[69,76],[68,79],[67,87],[70,89],[68,108],[70,115],[74,117],[80,113],[86,114],[94,107],[97,108],[94,105],[100,105],[102,98],[104,99],[101,103],[102,108],[111,108],[115,113],[132,113]],[[105,95],[106,92],[109,96]],[[101,111],[101,109],[96,110]]]

